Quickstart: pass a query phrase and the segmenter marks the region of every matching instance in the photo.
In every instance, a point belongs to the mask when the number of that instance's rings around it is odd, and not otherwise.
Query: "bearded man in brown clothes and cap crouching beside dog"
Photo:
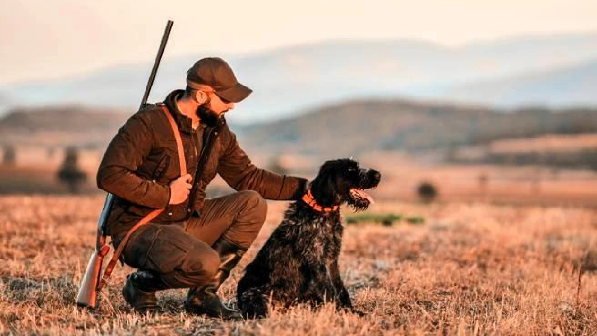
[[[122,289],[128,304],[158,311],[156,291],[190,288],[186,311],[236,319],[240,314],[221,303],[217,289],[259,233],[264,198],[297,200],[307,181],[259,169],[242,151],[224,114],[252,91],[224,60],[199,60],[186,82],[185,90],[148,105],[122,126],[106,149],[97,184],[116,196],[108,219],[115,247],[143,216],[165,209],[134,231],[122,252],[126,264],[139,268]],[[180,130],[183,176],[164,106]],[[205,200],[216,173],[238,192]]]

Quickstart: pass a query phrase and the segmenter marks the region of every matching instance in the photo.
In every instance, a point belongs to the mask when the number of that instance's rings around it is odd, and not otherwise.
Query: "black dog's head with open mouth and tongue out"
[[[380,179],[380,172],[362,169],[354,160],[326,161],[311,182],[311,193],[321,206],[346,203],[355,210],[365,210],[373,203],[373,198],[365,190],[377,187]]]

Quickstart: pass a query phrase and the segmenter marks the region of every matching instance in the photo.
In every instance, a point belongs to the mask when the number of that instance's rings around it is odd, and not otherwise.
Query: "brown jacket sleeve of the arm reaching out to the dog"
[[[279,175],[257,168],[241,149],[236,135],[224,126],[223,149],[218,161],[218,173],[234,190],[254,190],[267,200],[298,200],[303,196],[307,179]]]

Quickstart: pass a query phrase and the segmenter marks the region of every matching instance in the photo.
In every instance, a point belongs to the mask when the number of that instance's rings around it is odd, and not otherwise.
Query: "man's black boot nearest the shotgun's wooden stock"
[[[155,292],[161,289],[167,289],[167,286],[162,283],[159,274],[137,270],[127,276],[122,296],[139,313],[159,313]]]

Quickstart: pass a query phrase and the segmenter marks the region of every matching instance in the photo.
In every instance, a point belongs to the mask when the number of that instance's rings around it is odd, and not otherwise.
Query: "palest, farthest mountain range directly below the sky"
[[[173,88],[183,88],[190,65],[211,55],[162,60],[150,101],[163,99]],[[230,114],[232,121],[249,123],[355,97],[446,97],[453,89],[454,94],[459,92],[461,85],[589,62],[597,59],[597,33],[528,36],[456,48],[408,40],[326,41],[220,56],[229,60],[242,83],[254,89]],[[9,85],[0,88],[0,95],[13,104],[67,102],[134,109],[140,103],[153,55],[147,59],[147,63],[113,66],[78,78]],[[520,94],[517,101],[549,102],[558,96],[563,105],[578,103],[573,90],[554,90],[531,92],[528,99]],[[503,103],[499,99],[479,101]]]

